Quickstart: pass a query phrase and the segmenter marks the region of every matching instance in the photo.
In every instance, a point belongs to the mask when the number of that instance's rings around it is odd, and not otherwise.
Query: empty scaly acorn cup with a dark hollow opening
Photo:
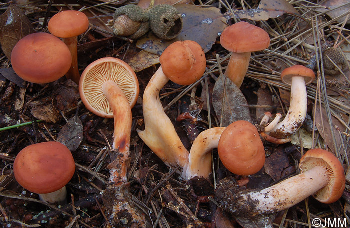
[[[168,4],[154,5],[149,10],[149,24],[153,33],[161,39],[170,40],[182,30],[182,16]]]

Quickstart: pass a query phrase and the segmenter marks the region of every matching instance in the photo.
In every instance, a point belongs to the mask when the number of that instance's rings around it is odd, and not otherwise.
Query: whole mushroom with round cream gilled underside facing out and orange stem
[[[89,64],[81,74],[79,92],[86,108],[94,114],[114,117],[113,149],[120,155],[108,168],[111,180],[126,182],[132,124],[131,108],[135,105],[139,87],[135,72],[124,61],[105,57]]]

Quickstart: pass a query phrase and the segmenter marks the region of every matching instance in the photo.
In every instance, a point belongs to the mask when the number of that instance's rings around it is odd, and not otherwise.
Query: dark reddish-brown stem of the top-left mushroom
[[[78,68],[78,38],[77,36],[63,38],[63,42],[67,45],[71,54],[71,66],[65,76],[67,79],[71,79],[77,85],[79,85],[80,73]]]

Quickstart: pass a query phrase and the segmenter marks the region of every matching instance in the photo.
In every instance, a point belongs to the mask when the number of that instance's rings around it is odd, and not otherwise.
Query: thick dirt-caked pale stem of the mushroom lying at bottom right
[[[326,186],[328,181],[327,169],[315,166],[261,191],[232,191],[228,188],[232,184],[226,180],[216,189],[216,196],[225,210],[235,215],[255,216],[290,208]]]

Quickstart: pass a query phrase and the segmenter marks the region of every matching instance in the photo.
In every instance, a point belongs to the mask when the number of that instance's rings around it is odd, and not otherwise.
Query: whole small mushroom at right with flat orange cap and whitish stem
[[[264,133],[283,139],[301,127],[307,111],[306,85],[310,84],[314,78],[314,72],[302,65],[294,65],[282,71],[281,80],[291,85],[289,110],[281,122],[276,124],[277,121],[272,121],[273,123],[267,125]]]

